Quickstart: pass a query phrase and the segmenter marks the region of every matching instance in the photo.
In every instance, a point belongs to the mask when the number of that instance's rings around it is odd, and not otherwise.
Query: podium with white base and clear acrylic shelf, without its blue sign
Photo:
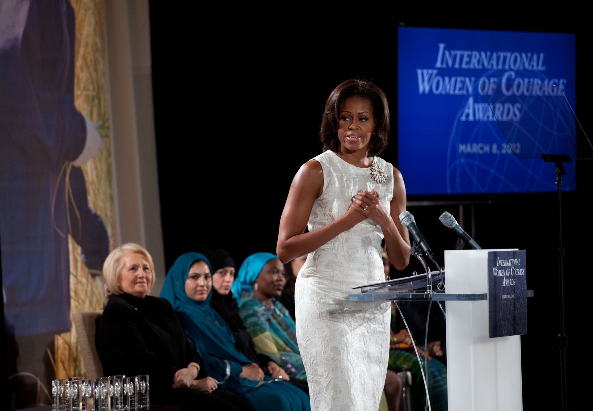
[[[409,332],[414,324],[406,321],[403,306],[434,302],[432,310],[441,317],[445,314],[446,320],[448,409],[522,410],[521,336],[489,338],[488,328],[488,251],[515,249],[445,251],[445,291],[426,291],[427,276],[423,274],[361,285],[348,295],[348,300],[361,304],[395,301]],[[439,272],[432,272],[432,281],[433,285],[441,281]],[[533,291],[527,291],[527,295],[532,297]],[[429,305],[428,313],[430,310]],[[436,325],[428,319],[427,315],[425,324],[419,327],[426,328],[425,346],[429,327]],[[413,336],[417,340],[417,333],[413,332]],[[429,402],[427,409],[431,409]]]

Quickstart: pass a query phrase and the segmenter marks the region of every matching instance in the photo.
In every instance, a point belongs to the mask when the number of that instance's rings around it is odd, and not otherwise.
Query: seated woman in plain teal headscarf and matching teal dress
[[[161,291],[202,356],[208,375],[219,380],[220,387],[245,397],[258,411],[310,410],[307,394],[285,381],[264,377],[258,365],[235,349],[227,323],[209,304],[211,272],[203,254],[183,254],[169,270]]]

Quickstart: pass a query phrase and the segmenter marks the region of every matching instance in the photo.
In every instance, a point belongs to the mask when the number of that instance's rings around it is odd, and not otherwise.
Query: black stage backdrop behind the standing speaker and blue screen
[[[390,146],[381,155],[397,167],[397,60],[399,21],[408,26],[557,31],[577,37],[577,115],[593,133],[585,60],[588,28],[558,23],[551,16],[499,23],[400,18],[372,30],[340,24],[208,21],[206,14],[174,13],[151,1],[152,75],[158,174],[165,263],[186,251],[221,247],[235,262],[256,251],[275,252],[278,222],[292,177],[301,164],[320,154],[324,103],[348,78],[372,80],[391,104]],[[355,13],[356,14],[356,13]],[[286,16],[285,16],[286,17]],[[280,20],[277,20],[277,22]],[[496,23],[495,23],[496,21]],[[204,26],[206,24],[206,26]],[[358,23],[360,27],[360,23]],[[362,26],[368,27],[368,23]],[[382,27],[382,28],[381,28]],[[582,26],[580,26],[582,27]],[[342,31],[343,30],[343,31]],[[580,86],[580,87],[579,87]],[[447,131],[448,133],[448,131]],[[418,154],[419,167],[422,153]],[[577,164],[578,192],[563,194],[566,248],[566,327],[570,336],[569,399],[578,395],[587,356],[581,322],[588,317],[586,275],[579,269],[589,254],[588,192],[591,164]],[[549,164],[550,179],[554,167]],[[404,180],[406,176],[404,176]],[[413,197],[408,210],[439,262],[454,248],[455,235],[438,216],[460,215],[482,248],[517,247],[528,256],[528,334],[521,337],[524,409],[560,409],[557,335],[559,286],[556,193],[495,196]],[[440,202],[440,203],[439,203]],[[473,209],[472,209],[473,208]],[[471,227],[471,214],[474,225]],[[458,218],[459,219],[459,218]],[[406,273],[422,272],[410,261]],[[579,359],[581,361],[579,361]],[[575,404],[575,402],[572,402]]]

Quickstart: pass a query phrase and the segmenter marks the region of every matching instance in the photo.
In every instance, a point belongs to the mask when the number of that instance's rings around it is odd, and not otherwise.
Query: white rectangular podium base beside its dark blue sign
[[[445,251],[447,294],[488,292],[488,251]],[[447,386],[451,411],[519,411],[521,336],[489,338],[488,301],[447,301]]]

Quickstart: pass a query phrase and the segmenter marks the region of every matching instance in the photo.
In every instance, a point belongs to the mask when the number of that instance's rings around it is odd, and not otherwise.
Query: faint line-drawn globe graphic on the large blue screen
[[[554,163],[545,163],[540,154],[575,158],[575,117],[566,97],[556,86],[534,86],[531,79],[544,82],[541,72],[513,73],[487,72],[482,79],[505,83],[477,81],[460,104],[447,147],[448,193],[555,191]],[[543,87],[549,95],[543,95]],[[574,189],[574,164],[565,164],[565,189]]]

